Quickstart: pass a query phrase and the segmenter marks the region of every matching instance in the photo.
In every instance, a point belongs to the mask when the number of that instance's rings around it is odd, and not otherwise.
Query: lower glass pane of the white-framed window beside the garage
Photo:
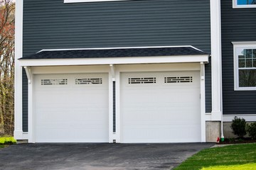
[[[239,70],[239,86],[255,87],[256,86],[256,69]]]

